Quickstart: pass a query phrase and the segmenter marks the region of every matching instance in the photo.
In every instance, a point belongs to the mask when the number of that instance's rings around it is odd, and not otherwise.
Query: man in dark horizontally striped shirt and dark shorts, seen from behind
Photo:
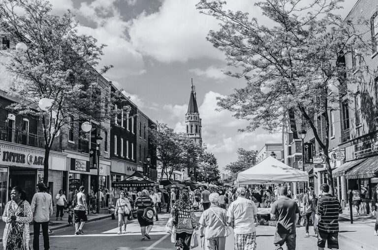
[[[322,195],[317,202],[314,230],[318,232],[317,246],[324,250],[325,243],[329,249],[339,249],[339,214],[343,213],[340,202],[329,194],[329,185],[320,185]]]

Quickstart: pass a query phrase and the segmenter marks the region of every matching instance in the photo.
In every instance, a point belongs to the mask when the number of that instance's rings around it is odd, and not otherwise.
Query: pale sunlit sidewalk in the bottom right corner
[[[356,215],[353,207],[353,224],[350,223],[349,208],[339,216],[339,237],[353,242],[364,250],[377,250],[378,236],[374,236],[376,218],[372,215]]]

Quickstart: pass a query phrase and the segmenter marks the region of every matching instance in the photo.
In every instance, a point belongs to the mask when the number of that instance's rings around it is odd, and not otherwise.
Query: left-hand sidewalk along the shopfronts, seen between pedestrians
[[[92,214],[90,213],[89,215],[87,215],[88,217],[88,222],[95,222],[95,221],[98,221],[98,220],[103,220],[103,219],[107,219],[107,218],[111,218],[111,214],[108,214],[108,209],[106,208],[102,208],[100,209],[100,213],[99,214]],[[57,230],[57,229],[61,229],[63,227],[68,227],[68,214],[66,213],[66,211],[64,211],[64,214],[63,214],[63,220],[61,221],[61,219],[59,218],[58,221],[56,221],[56,217],[55,217],[55,214],[51,217],[50,219],[50,223],[49,223],[49,229],[51,231],[54,231],[54,230]],[[0,242],[2,242],[2,235],[3,235],[3,232],[4,232],[4,228],[5,228],[5,222],[1,221],[0,220]],[[40,229],[41,233],[42,233],[42,229]],[[29,231],[30,231],[30,235],[33,235],[34,232],[33,232],[33,224],[30,224],[29,225]]]

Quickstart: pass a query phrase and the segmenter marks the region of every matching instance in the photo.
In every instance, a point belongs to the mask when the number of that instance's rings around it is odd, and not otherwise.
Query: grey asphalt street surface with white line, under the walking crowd
[[[199,216],[200,214],[198,214]],[[84,236],[75,236],[74,227],[67,227],[54,231],[50,236],[51,250],[175,250],[174,244],[170,242],[170,235],[164,231],[167,216],[160,216],[160,221],[150,233],[151,240],[141,241],[140,227],[136,220],[127,225],[127,233],[118,235],[118,221],[110,219],[90,222],[86,224],[83,231]],[[274,250],[273,226],[257,227],[257,250]],[[312,228],[310,229],[310,232]],[[314,232],[310,237],[305,237],[304,227],[297,228],[297,250],[317,250]],[[357,250],[350,243],[339,239],[341,250]],[[30,242],[32,248],[32,239]],[[2,249],[2,246],[1,248]],[[40,237],[40,249],[43,249],[43,238]],[[201,246],[195,250],[201,250]],[[227,237],[226,250],[233,249],[233,236]],[[286,250],[286,248],[284,247]]]

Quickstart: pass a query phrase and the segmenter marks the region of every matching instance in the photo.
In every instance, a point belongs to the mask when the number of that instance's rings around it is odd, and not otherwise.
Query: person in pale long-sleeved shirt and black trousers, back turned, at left
[[[42,226],[43,248],[50,249],[49,221],[53,215],[53,198],[46,193],[47,188],[43,182],[37,184],[37,193],[32,198],[31,208],[33,214],[33,250],[39,250],[39,230]]]

